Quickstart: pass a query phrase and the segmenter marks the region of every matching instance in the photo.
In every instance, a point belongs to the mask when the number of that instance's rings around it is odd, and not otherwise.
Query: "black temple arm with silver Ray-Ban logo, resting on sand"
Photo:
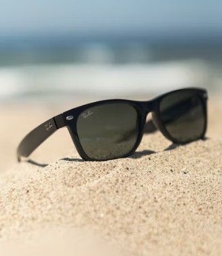
[[[62,114],[55,116],[36,127],[22,140],[17,150],[18,161],[21,157],[29,157],[31,153],[59,128],[64,127]]]

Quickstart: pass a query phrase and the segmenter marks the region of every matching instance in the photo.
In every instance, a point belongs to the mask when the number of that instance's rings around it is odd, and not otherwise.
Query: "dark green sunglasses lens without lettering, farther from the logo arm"
[[[204,103],[194,91],[177,91],[164,97],[160,103],[160,116],[166,130],[177,142],[191,142],[204,135]]]

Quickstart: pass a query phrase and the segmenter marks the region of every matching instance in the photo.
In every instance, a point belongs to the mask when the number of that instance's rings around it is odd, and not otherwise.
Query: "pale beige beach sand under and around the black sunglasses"
[[[45,167],[16,163],[27,132],[73,107],[0,107],[0,255],[221,255],[219,98],[206,140],[176,146],[157,132],[131,157],[89,162],[61,129],[31,155]]]

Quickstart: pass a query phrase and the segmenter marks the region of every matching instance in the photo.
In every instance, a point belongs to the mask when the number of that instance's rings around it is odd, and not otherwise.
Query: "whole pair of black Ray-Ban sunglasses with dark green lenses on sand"
[[[67,127],[79,155],[105,161],[135,152],[145,131],[147,114],[170,141],[185,144],[204,138],[207,114],[205,89],[171,91],[150,101],[109,99],[89,103],[54,116],[26,135],[18,146],[18,161],[55,131]]]

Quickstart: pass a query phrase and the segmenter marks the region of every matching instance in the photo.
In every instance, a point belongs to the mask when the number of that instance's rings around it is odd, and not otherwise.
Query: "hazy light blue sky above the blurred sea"
[[[1,0],[0,36],[48,31],[221,31],[221,10],[221,0]]]

